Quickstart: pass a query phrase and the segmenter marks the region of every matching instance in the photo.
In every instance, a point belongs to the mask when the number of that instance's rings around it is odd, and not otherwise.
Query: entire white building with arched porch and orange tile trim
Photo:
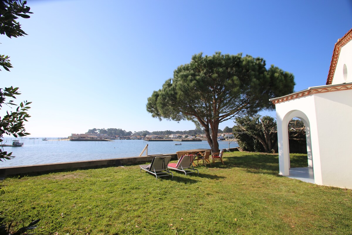
[[[271,99],[276,106],[279,174],[290,169],[288,122],[298,117],[306,126],[308,162],[302,180],[352,188],[352,29],[335,44],[326,85]],[[350,72],[350,74],[348,74]],[[304,175],[304,174],[303,174]]]

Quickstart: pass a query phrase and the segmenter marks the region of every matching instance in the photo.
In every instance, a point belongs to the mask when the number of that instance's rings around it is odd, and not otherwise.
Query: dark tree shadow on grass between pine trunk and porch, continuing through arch
[[[279,173],[279,157],[277,154],[248,154],[245,156],[229,156],[224,157],[225,165],[220,162],[215,164],[218,168],[245,168],[247,172],[256,174],[272,174]],[[307,155],[294,155],[290,157],[291,168],[306,167]]]

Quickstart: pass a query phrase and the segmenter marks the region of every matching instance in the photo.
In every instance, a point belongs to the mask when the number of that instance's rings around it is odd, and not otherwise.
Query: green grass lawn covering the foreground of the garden
[[[0,217],[40,218],[36,234],[352,234],[352,190],[280,177],[277,155],[224,161],[174,179],[137,165],[6,178]]]

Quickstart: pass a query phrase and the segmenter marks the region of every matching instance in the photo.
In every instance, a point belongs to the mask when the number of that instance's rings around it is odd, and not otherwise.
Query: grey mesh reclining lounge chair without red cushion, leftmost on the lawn
[[[156,179],[158,177],[167,176],[171,174],[171,177],[174,178],[172,172],[169,172],[168,164],[171,159],[171,156],[157,156],[154,157],[152,162],[149,165],[140,165],[140,172],[142,170],[149,172],[155,175]]]

